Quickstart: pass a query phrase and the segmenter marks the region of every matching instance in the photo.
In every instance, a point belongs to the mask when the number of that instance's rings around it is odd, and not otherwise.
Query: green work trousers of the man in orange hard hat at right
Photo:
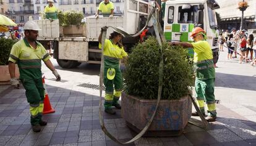
[[[211,116],[216,116],[216,105],[214,95],[215,79],[195,79],[195,92],[197,97],[198,107],[202,113],[205,113],[205,101],[208,107],[208,113]]]

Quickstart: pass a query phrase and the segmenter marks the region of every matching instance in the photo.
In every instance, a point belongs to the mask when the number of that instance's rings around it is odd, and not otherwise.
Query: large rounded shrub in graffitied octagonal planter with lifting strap
[[[163,44],[163,89],[160,105],[147,136],[179,135],[192,112],[188,97],[193,84],[193,65],[188,52],[179,46]],[[129,55],[124,72],[122,116],[135,131],[143,129],[155,110],[158,95],[160,45],[149,38],[137,44]]]

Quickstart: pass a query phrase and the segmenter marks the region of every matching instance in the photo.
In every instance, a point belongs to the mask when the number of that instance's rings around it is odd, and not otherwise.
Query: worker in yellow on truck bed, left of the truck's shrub
[[[49,4],[45,7],[45,17],[51,20],[58,19],[57,8],[53,5],[53,0],[47,0]]]

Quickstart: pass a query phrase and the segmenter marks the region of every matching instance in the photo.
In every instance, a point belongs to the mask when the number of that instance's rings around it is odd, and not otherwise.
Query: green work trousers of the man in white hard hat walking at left
[[[27,101],[30,105],[30,123],[39,124],[43,113],[43,100],[45,99],[45,88],[42,78],[20,79],[26,90]]]

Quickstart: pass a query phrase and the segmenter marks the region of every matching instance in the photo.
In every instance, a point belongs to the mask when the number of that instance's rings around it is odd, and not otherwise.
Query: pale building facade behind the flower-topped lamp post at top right
[[[241,16],[242,12],[237,9],[237,1],[223,1],[217,0],[220,4],[220,9],[217,9],[216,12],[220,14],[221,22],[218,22],[219,28],[221,30],[232,30],[239,29],[241,25]],[[249,7],[244,11],[244,28],[247,29],[256,29],[255,14],[256,14],[256,0],[247,0]]]

